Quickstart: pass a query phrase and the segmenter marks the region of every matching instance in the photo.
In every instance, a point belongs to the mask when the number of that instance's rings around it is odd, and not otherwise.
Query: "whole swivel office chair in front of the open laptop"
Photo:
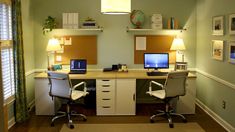
[[[85,97],[88,92],[86,88],[86,82],[81,82],[72,87],[69,75],[66,73],[48,71],[48,79],[50,84],[49,95],[52,97],[58,97],[61,99],[67,100],[66,112],[57,112],[51,120],[51,126],[54,126],[54,121],[58,118],[67,116],[68,118],[68,127],[74,128],[71,116],[81,116],[84,121],[87,120],[86,116],[83,114],[75,114],[70,110],[71,102],[78,100],[82,97]],[[83,91],[77,90],[76,88],[83,85]]]

